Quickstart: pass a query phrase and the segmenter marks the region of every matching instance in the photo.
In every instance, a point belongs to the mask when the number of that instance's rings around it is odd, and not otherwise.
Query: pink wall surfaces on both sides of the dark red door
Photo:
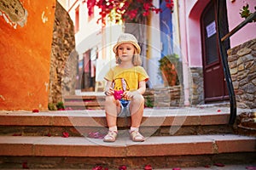
[[[183,0],[180,3],[180,31],[181,31],[181,48],[183,55],[188,60],[189,67],[201,67],[202,56],[201,56],[201,26],[200,17],[203,9],[207,6],[210,0]],[[240,9],[245,3],[241,0],[236,0],[231,3],[227,0],[228,9],[228,21],[230,31],[241,23]],[[247,0],[250,5],[251,11],[254,11],[253,7],[256,5],[256,0]],[[250,39],[256,37],[256,24],[249,23],[244,26],[240,31],[236,32],[235,35],[230,37],[231,48],[247,42]]]

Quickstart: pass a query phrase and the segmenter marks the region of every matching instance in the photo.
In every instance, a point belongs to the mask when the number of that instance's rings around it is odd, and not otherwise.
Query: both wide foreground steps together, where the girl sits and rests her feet
[[[203,167],[256,163],[256,138],[228,125],[229,108],[145,109],[143,143],[129,139],[130,118],[119,118],[119,137],[102,142],[102,110],[0,111],[0,168],[118,169]]]

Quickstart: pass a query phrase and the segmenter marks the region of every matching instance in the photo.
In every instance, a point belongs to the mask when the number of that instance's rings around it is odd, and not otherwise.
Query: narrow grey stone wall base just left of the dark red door
[[[190,101],[191,105],[204,104],[204,77],[201,67],[191,67],[191,88],[190,88]]]

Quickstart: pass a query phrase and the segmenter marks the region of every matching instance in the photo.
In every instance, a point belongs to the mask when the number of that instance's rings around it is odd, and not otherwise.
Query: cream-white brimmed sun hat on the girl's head
[[[132,34],[123,33],[119,36],[118,42],[113,46],[113,53],[117,54],[117,48],[122,43],[131,43],[137,49],[137,54],[141,53],[141,48],[137,43],[137,38],[134,37]]]

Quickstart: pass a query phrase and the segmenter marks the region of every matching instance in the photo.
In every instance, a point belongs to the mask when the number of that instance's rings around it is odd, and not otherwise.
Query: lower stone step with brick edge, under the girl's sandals
[[[255,163],[255,137],[234,134],[149,137],[132,142],[128,133],[114,143],[84,137],[0,136],[0,168],[88,168],[102,165],[128,169]],[[45,167],[48,166],[48,167]]]

